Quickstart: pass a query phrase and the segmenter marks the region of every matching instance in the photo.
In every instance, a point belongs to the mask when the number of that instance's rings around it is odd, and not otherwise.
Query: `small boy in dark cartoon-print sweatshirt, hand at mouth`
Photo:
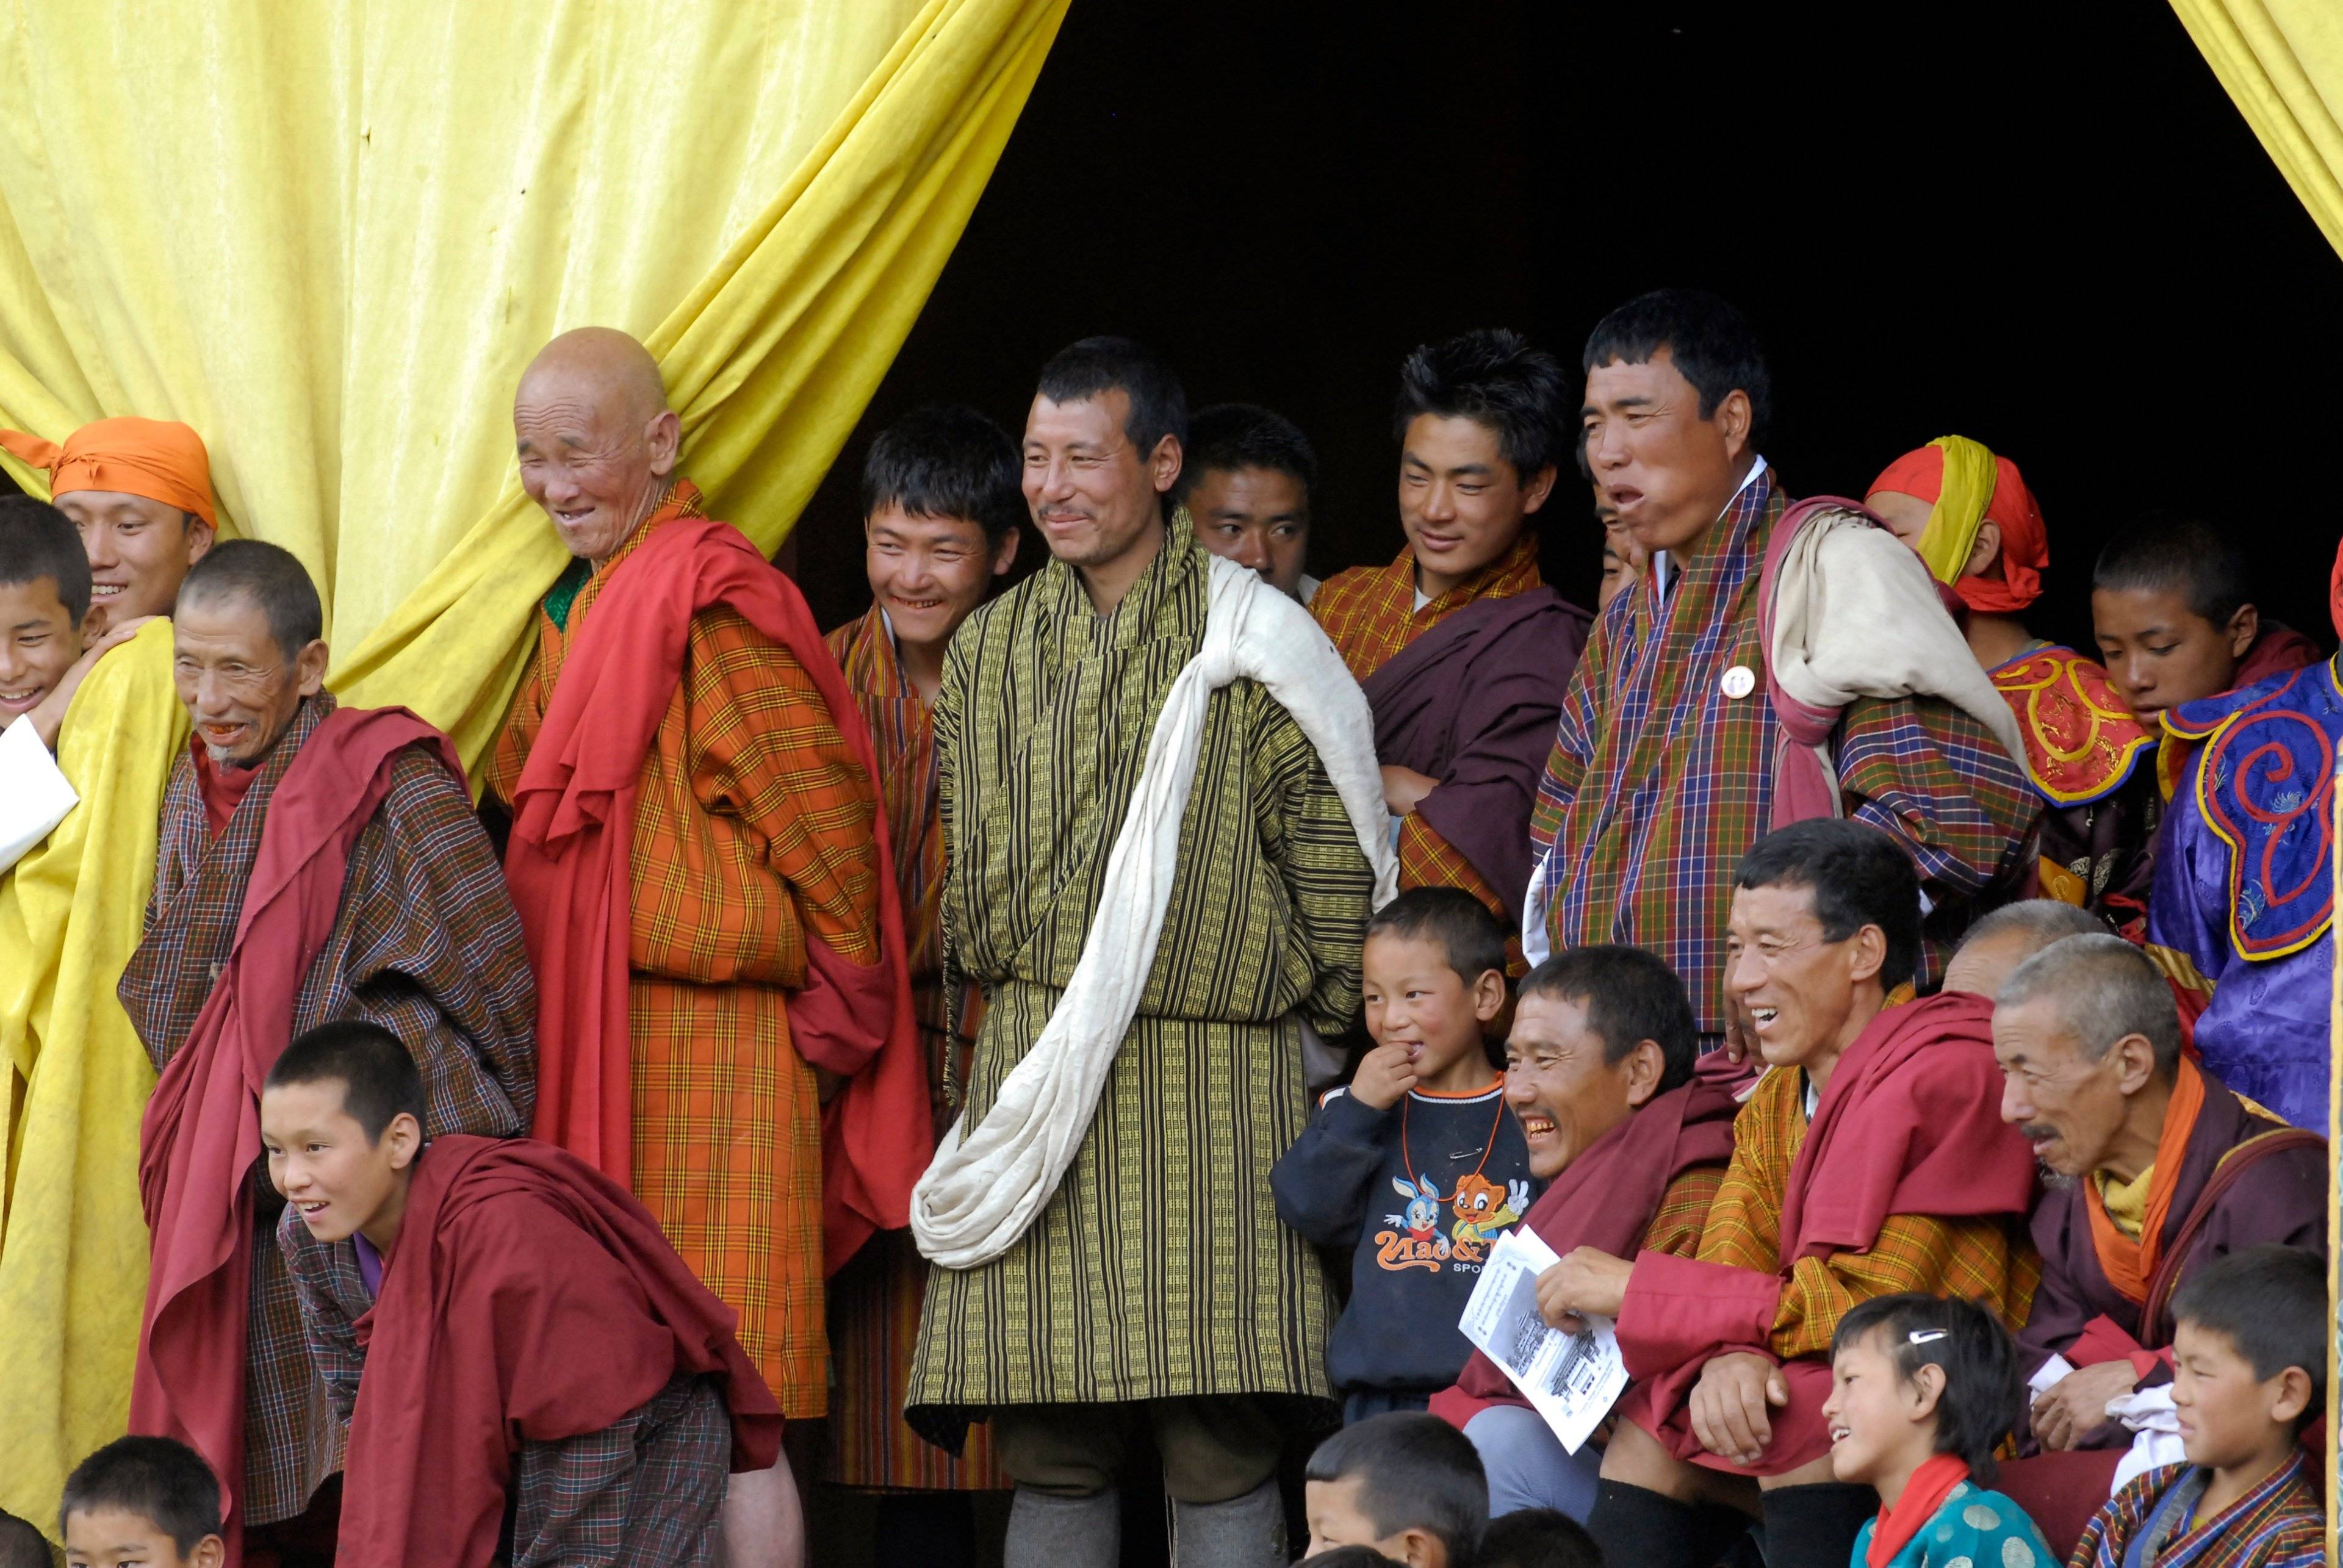
[[[1530,1148],[1485,1029],[1504,1010],[1504,928],[1457,888],[1410,888],[1366,926],[1375,1048],[1270,1172],[1277,1214],[1357,1247],[1326,1348],[1343,1420],[1420,1411],[1471,1355],[1457,1329],[1488,1249],[1530,1207]]]

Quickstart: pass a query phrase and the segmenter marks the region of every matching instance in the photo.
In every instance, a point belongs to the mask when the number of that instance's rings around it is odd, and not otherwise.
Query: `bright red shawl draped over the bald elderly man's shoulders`
[[[869,769],[879,844],[881,961],[806,942],[790,1036],[853,1080],[822,1111],[822,1261],[836,1273],[874,1230],[909,1223],[933,1139],[902,905],[869,729],[797,586],[731,523],[651,527],[576,630],[546,722],[513,792],[504,872],[537,966],[537,1137],[621,1186],[633,1181],[628,1109],[628,935],[635,790],[684,673],[691,616],[729,607],[790,649],[846,745]]]

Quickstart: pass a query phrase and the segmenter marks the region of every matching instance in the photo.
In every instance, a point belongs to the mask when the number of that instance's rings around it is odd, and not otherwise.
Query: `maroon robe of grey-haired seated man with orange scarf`
[[[2205,1073],[2205,1106],[2188,1134],[2181,1174],[2165,1216],[2160,1275],[2186,1280],[2205,1263],[2261,1242],[2327,1254],[2327,1148],[2308,1139],[2298,1146],[2273,1148],[2266,1158],[2238,1167],[2226,1191],[2198,1214],[2214,1167],[2247,1139],[2282,1127],[2284,1123],[2263,1120],[2247,1111],[2219,1078]],[[2090,1214],[2083,1200],[2083,1181],[2088,1179],[2043,1193],[2034,1209],[2034,1245],[2043,1254],[2043,1282],[2034,1294],[2034,1315],[2017,1331],[2020,1369],[2034,1376],[2052,1355],[2064,1355],[2076,1366],[2130,1355],[2144,1383],[2167,1383],[2172,1373],[2156,1364],[2163,1359],[2156,1352],[2172,1345],[2172,1291],[2151,1289],[2158,1310],[2156,1320],[2149,1322],[2149,1303],[2132,1301],[2109,1282],[2106,1270],[2099,1268],[2099,1249],[2090,1238]],[[2191,1221],[2195,1221],[2193,1235],[2181,1245],[2181,1233],[2191,1230]],[[2083,1446],[2104,1448],[2130,1441],[2130,1430],[2111,1420],[2090,1432]]]

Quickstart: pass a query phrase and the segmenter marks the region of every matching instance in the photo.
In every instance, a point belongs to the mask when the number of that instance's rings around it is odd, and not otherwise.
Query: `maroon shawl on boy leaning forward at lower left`
[[[356,1322],[366,1376],[335,1561],[485,1568],[515,1448],[600,1432],[679,1371],[722,1378],[731,1467],[771,1467],[780,1404],[736,1322],[658,1221],[576,1155],[532,1139],[431,1141],[382,1294]]]

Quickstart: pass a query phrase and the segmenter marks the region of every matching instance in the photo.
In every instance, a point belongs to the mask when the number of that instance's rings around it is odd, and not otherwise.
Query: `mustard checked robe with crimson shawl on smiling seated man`
[[[2024,1322],[2041,1275],[2024,1228],[2034,1148],[1999,1116],[1992,1017],[1989,998],[1954,991],[1886,1008],[1839,1057],[1811,1127],[1802,1071],[1757,1083],[1699,1249],[1645,1252],[1628,1275],[1621,1418],[1680,1460],[1783,1474],[1830,1453],[1830,1338],[1858,1301],[1966,1296]],[[1746,1470],[1708,1453],[1687,1411],[1701,1366],[1736,1350],[1790,1388]]]

